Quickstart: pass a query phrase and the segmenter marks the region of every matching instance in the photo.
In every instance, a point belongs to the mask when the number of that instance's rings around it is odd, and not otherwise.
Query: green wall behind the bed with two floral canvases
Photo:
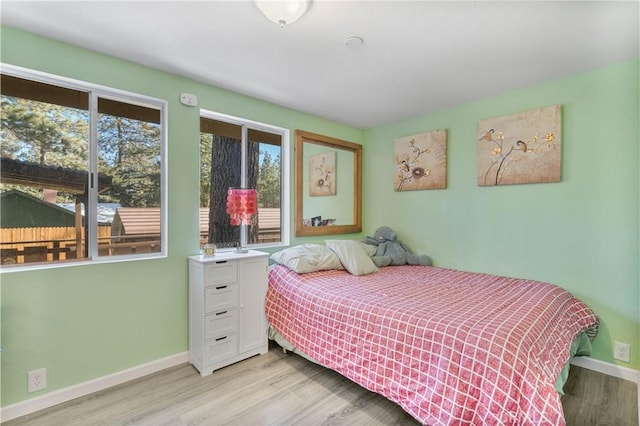
[[[637,370],[639,92],[635,60],[367,130],[365,231],[389,225],[438,266],[568,289],[600,317],[594,358],[613,363],[613,341],[630,343],[631,363],[615,363]],[[478,121],[554,104],[562,181],[478,187]],[[436,129],[448,130],[447,189],[394,192],[393,141]]]

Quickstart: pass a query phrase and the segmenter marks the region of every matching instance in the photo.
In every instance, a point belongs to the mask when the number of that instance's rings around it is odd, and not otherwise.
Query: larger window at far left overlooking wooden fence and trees
[[[3,66],[2,268],[164,255],[166,103]]]

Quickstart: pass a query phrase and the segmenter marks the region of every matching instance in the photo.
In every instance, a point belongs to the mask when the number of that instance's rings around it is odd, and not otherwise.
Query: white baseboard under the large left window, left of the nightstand
[[[89,380],[88,382],[56,390],[42,396],[20,401],[6,407],[1,407],[0,421],[6,422],[17,417],[25,416],[38,410],[53,407],[54,405],[62,402],[71,401],[72,399],[89,395],[188,361],[189,352],[182,352],[166,358],[157,359],[146,364],[138,365],[136,367],[128,368],[126,370],[118,371],[117,373],[109,374],[108,376],[99,377],[97,379]]]

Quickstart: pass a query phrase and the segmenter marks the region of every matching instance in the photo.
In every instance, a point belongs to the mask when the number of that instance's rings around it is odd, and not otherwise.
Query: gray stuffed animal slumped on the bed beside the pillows
[[[388,226],[379,227],[373,237],[365,237],[362,242],[378,246],[376,254],[371,258],[378,267],[405,264],[431,266],[429,256],[413,254]]]

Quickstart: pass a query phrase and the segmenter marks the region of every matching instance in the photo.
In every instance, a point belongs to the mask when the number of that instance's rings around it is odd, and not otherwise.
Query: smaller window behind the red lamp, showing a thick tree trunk
[[[286,129],[201,111],[201,245],[288,244],[288,140]],[[257,190],[258,213],[248,226],[230,223],[227,190],[234,187]]]

